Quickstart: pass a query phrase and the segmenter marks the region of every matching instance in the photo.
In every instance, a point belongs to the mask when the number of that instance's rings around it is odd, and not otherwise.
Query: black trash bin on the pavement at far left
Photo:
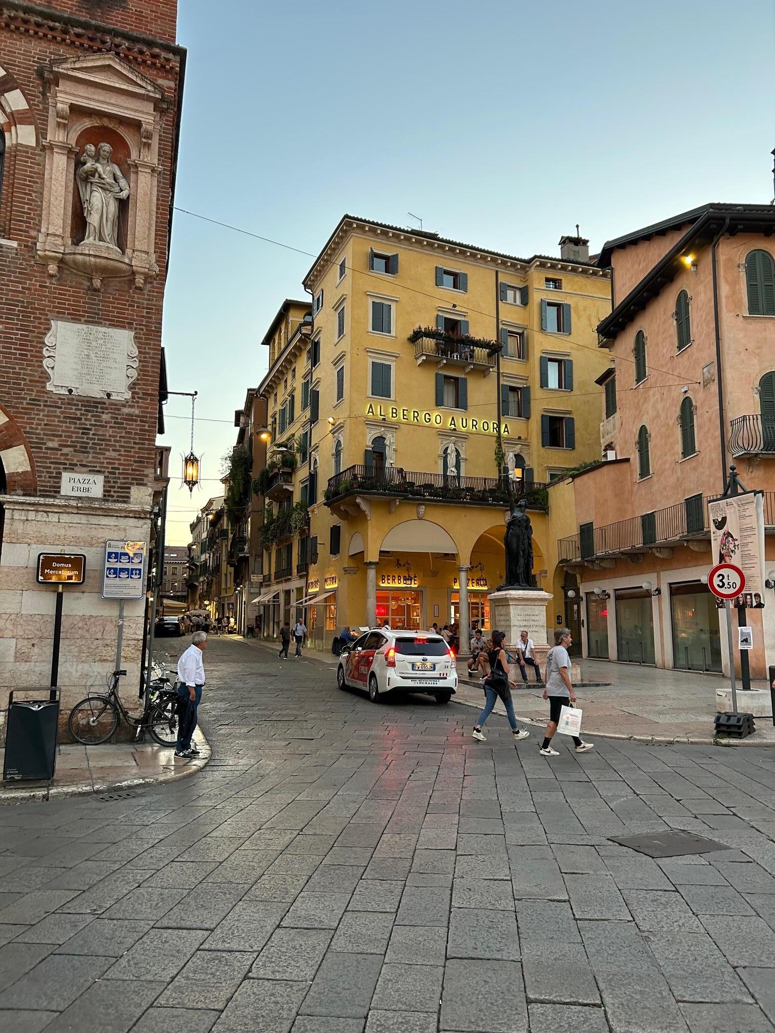
[[[14,699],[8,695],[3,780],[51,781],[57,763],[59,689],[47,699]]]

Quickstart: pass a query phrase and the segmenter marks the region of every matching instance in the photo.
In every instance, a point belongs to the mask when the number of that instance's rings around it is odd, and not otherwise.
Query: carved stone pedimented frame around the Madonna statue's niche
[[[142,288],[158,272],[155,254],[159,131],[167,103],[163,90],[113,54],[55,63],[47,72],[49,124],[43,140],[45,178],[37,253],[51,276],[60,263],[102,280],[134,277]],[[129,149],[129,213],[126,253],[99,244],[73,244],[70,233],[75,185],[75,142],[84,129],[104,125]]]

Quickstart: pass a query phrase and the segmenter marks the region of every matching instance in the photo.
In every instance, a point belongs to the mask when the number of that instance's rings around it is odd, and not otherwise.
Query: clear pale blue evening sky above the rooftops
[[[316,254],[345,213],[510,254],[556,254],[709,200],[772,199],[771,0],[180,0],[188,49],[176,204]],[[169,387],[199,392],[203,474],[267,369],[260,341],[311,264],[176,213]],[[188,400],[171,399],[167,542]]]

